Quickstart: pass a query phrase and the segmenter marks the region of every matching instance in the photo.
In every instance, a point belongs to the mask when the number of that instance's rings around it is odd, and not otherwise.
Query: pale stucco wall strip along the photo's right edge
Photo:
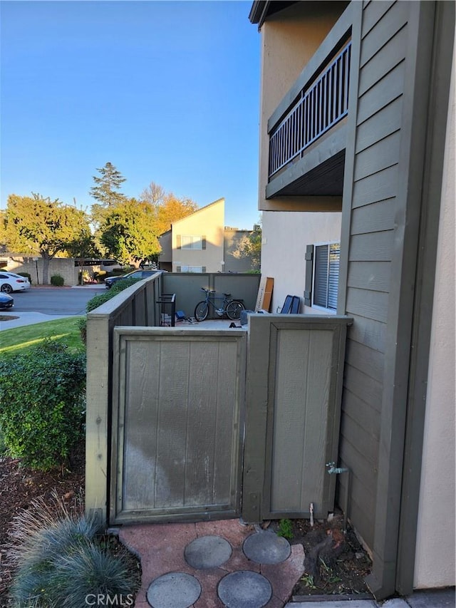
[[[415,588],[455,584],[455,56],[432,311]]]

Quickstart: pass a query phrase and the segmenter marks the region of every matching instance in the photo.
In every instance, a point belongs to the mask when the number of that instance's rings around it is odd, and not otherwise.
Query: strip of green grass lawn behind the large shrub
[[[44,321],[33,325],[2,329],[0,331],[0,356],[23,353],[31,346],[37,346],[45,338],[66,344],[71,352],[83,351],[79,320],[82,316],[68,316],[56,321]]]

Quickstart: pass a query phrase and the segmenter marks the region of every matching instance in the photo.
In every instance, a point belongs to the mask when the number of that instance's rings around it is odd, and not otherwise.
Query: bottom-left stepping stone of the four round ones
[[[152,581],[147,602],[152,608],[189,608],[201,594],[201,585],[185,572],[168,572]]]

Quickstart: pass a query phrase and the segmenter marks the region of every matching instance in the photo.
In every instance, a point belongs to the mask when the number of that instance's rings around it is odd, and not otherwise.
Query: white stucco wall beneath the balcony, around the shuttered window
[[[271,312],[279,312],[287,294],[301,298],[304,309],[306,245],[341,238],[341,213],[263,212],[261,275],[274,277]],[[321,311],[320,311],[321,312]]]

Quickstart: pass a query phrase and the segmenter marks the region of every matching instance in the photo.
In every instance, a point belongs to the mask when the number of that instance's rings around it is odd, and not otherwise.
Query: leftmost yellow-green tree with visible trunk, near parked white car
[[[67,252],[72,242],[89,231],[82,210],[41,195],[9,195],[4,214],[4,238],[11,251],[39,254],[43,258],[43,283],[48,284],[49,262]]]

